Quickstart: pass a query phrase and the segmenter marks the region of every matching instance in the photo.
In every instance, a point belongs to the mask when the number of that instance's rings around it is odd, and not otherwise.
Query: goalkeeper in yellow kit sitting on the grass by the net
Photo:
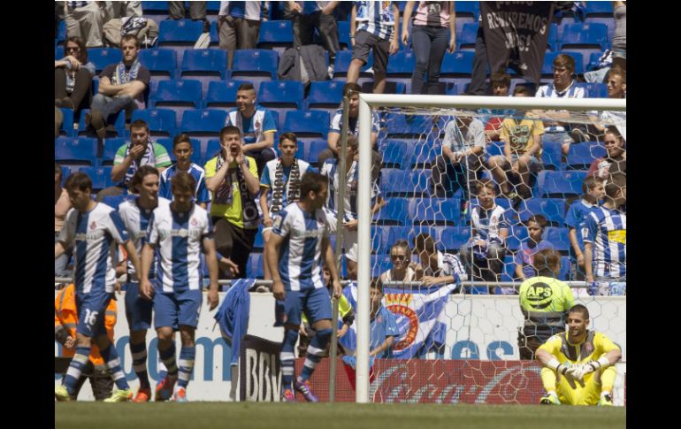
[[[614,364],[622,352],[603,333],[589,331],[589,310],[570,308],[568,331],[557,333],[537,349],[544,365],[541,383],[547,395],[542,404],[612,405]]]

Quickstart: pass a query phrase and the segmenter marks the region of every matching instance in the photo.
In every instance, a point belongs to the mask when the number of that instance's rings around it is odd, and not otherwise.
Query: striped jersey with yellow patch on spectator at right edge
[[[626,214],[598,207],[587,213],[584,242],[593,243],[593,276],[626,276]]]

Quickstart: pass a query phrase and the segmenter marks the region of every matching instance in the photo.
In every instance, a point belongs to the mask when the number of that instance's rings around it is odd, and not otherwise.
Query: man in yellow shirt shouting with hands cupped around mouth
[[[246,278],[246,265],[256,241],[260,216],[255,195],[259,190],[256,160],[244,154],[241,131],[236,126],[220,130],[220,152],[205,165],[206,186],[213,196],[210,216],[220,267],[231,271],[226,259],[239,266],[238,278]]]

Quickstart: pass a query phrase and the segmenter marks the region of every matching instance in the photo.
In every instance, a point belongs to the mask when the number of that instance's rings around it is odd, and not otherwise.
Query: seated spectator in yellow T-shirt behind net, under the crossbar
[[[516,87],[514,96],[526,96],[527,88]],[[524,119],[504,119],[501,123],[501,142],[504,142],[504,155],[489,158],[489,168],[494,179],[499,182],[501,192],[509,198],[529,198],[532,196],[530,175],[541,169],[541,139],[544,125],[528,112]],[[509,177],[510,173],[510,177]],[[519,179],[519,180],[518,180]],[[516,191],[511,191],[510,183],[518,183]]]

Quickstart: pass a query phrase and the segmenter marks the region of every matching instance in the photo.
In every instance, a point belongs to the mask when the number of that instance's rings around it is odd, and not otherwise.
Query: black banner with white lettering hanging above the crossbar
[[[535,84],[547,50],[553,2],[480,2],[491,73],[510,67]]]

